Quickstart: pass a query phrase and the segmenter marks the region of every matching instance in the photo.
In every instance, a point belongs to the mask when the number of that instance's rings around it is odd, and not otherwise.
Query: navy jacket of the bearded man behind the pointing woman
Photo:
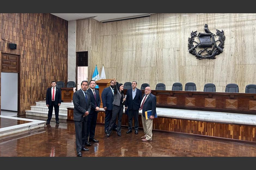
[[[107,110],[113,110],[114,94],[110,86],[103,89],[101,93],[101,99],[103,107],[107,107]]]

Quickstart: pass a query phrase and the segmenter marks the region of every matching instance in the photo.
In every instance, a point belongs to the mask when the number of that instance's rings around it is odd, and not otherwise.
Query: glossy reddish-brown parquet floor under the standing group
[[[76,156],[74,123],[52,121],[35,131],[1,137],[0,156]],[[152,142],[142,142],[142,130],[137,135],[126,131],[122,128],[121,137],[115,131],[106,137],[104,125],[97,124],[99,143],[92,143],[89,152],[82,151],[83,156],[256,156],[254,144],[154,131]]]

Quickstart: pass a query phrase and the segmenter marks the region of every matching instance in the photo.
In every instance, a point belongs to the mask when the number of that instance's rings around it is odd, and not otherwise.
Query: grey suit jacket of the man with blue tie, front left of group
[[[87,92],[86,92],[87,93]],[[91,100],[90,94],[87,93],[87,102],[85,101],[84,93],[82,89],[76,91],[73,95],[73,103],[74,103],[74,120],[75,121],[83,121],[84,113],[86,111],[91,111]],[[85,117],[85,120],[88,120],[88,116]]]

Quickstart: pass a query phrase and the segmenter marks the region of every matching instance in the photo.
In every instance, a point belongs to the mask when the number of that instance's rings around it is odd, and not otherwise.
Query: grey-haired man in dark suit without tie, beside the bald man
[[[138,116],[139,116],[139,108],[142,100],[142,92],[140,89],[136,88],[137,82],[132,82],[132,88],[128,89],[126,92],[126,101],[125,101],[125,110],[129,110],[129,127],[128,131],[126,133],[132,132],[132,117],[134,118],[134,129],[135,134],[138,134],[139,130],[139,122],[138,122]]]

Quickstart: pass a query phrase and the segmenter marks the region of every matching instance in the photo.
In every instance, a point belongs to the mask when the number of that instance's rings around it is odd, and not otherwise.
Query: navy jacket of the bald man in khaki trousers
[[[143,95],[143,97],[145,94]],[[145,111],[152,110],[151,116],[155,116],[156,113],[156,96],[149,94],[144,102],[142,108],[142,116],[145,117]]]

